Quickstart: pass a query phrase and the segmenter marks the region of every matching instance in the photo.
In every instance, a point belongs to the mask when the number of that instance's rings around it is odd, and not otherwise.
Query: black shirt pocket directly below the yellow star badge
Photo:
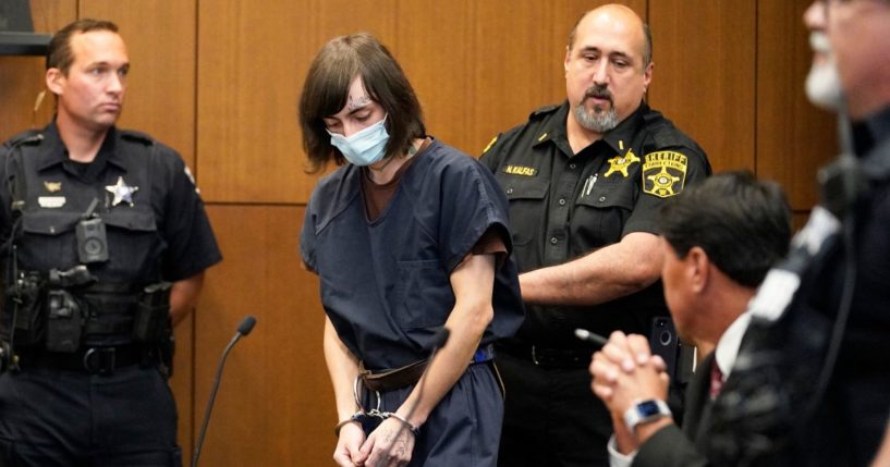
[[[576,204],[573,234],[592,241],[593,247],[621,241],[624,223],[634,209],[634,185],[626,181],[597,183]]]

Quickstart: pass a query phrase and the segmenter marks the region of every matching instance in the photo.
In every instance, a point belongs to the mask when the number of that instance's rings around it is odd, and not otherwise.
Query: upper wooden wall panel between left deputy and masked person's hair
[[[210,201],[305,202],[316,179],[296,106],[318,49],[341,34],[395,29],[394,0],[202,2],[198,153]]]

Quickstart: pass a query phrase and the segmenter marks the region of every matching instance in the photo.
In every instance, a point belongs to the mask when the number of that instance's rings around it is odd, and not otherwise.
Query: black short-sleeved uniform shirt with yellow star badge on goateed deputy
[[[566,136],[569,111],[564,102],[533,112],[481,158],[510,199],[520,272],[561,265],[632,232],[656,233],[665,201],[710,174],[704,150],[646,103],[576,155]],[[571,337],[577,327],[647,334],[651,317],[668,315],[660,282],[595,307],[527,311],[519,337],[553,346],[577,343]]]

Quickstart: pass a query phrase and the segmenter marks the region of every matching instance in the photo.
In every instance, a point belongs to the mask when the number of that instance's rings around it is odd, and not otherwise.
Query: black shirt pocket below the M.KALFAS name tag
[[[496,179],[510,200],[510,233],[513,235],[513,245],[526,245],[541,234],[547,225],[544,213],[550,181],[500,172]]]

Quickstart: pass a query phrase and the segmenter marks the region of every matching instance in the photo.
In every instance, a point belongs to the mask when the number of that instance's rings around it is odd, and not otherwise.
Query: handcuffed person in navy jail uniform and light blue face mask
[[[426,134],[411,84],[370,35],[321,49],[300,119],[310,162],[342,165],[313,192],[300,239],[327,315],[334,460],[493,467],[491,343],[523,318],[507,198],[478,161]],[[442,325],[450,337],[428,364]]]

